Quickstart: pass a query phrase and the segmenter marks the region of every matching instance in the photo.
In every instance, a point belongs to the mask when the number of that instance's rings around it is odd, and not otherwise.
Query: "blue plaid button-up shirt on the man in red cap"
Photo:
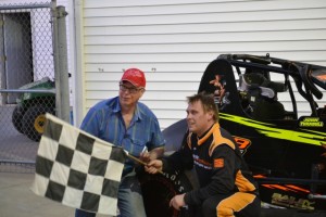
[[[103,100],[92,106],[84,118],[80,129],[122,146],[134,156],[139,156],[145,146],[151,151],[165,145],[156,116],[141,102],[137,103],[134,117],[126,129],[118,97]],[[134,165],[131,159],[127,159],[124,170],[131,170]]]

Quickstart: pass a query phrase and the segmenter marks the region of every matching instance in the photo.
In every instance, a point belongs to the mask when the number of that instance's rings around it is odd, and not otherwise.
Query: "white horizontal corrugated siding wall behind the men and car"
[[[185,117],[186,97],[221,53],[326,65],[325,0],[84,0],[83,13],[86,110],[116,95],[135,66],[147,72],[141,101],[162,128]]]

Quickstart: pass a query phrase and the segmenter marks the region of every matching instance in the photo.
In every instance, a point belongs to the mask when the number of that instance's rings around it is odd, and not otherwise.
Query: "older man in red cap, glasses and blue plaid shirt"
[[[148,106],[139,102],[146,87],[143,72],[138,68],[125,71],[118,86],[118,97],[103,100],[91,107],[80,128],[122,146],[143,162],[162,156],[165,140],[158,118]],[[117,195],[117,206],[122,217],[146,217],[141,188],[135,171],[136,166],[134,161],[127,159],[123,170]],[[76,209],[75,216],[95,217],[96,214]]]

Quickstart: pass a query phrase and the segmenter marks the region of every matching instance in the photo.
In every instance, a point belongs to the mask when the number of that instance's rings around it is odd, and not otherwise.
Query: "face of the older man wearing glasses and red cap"
[[[136,88],[130,82],[124,81],[120,84],[120,103],[122,106],[130,106],[136,104],[143,93],[143,88]]]

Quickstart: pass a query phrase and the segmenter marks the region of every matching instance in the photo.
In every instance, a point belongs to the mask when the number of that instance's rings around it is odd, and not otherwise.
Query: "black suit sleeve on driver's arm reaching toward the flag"
[[[162,158],[163,171],[184,171],[193,166],[192,152],[187,144],[188,133],[183,139],[181,148],[172,155]]]

